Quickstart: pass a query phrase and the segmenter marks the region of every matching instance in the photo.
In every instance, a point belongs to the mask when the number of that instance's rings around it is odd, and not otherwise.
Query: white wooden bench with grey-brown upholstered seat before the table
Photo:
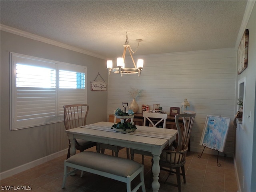
[[[68,167],[74,169],[68,172]],[[77,170],[82,170],[125,182],[127,192],[131,192],[131,182],[134,178],[136,178],[136,176],[138,176],[138,174],[140,174],[140,182],[132,190],[132,192],[136,192],[140,186],[142,186],[142,191],[146,192],[143,174],[144,166],[129,159],[114,157],[92,151],[84,151],[75,154],[64,161],[62,188],[65,187],[67,176],[76,172]]]

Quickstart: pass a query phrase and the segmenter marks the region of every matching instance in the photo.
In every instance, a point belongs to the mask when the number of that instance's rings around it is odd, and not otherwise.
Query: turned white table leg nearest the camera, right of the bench
[[[159,173],[160,173],[160,166],[159,166],[159,160],[160,160],[160,155],[153,155],[153,166],[152,166],[152,172],[153,172],[153,182],[152,182],[152,189],[153,192],[158,192],[160,188],[160,183],[158,182],[159,180]]]

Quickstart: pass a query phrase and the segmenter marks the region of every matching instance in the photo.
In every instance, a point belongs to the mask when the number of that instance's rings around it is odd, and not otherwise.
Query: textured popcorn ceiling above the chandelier
[[[233,48],[247,1],[0,1],[1,24],[95,53],[122,56]]]

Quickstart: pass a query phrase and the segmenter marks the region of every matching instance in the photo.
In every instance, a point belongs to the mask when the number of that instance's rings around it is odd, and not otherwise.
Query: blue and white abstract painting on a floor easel
[[[223,152],[230,118],[207,116],[200,145]]]

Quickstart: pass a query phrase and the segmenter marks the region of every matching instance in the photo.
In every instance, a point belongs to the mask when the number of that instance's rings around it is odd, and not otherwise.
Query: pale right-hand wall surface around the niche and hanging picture
[[[256,4],[245,28],[249,30],[248,67],[237,75],[246,78],[243,129],[236,129],[235,162],[240,191],[256,191]],[[248,118],[250,116],[250,118]]]

